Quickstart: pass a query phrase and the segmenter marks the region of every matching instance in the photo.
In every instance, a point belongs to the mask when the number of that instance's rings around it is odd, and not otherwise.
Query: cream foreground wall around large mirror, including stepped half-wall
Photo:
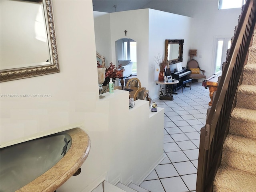
[[[163,158],[164,109],[129,110],[128,92],[99,100],[92,1],[52,2],[60,73],[1,83],[1,146],[80,126],[91,140],[82,172],[58,192],[88,192],[103,180],[139,184]],[[26,98],[24,94],[49,94]]]

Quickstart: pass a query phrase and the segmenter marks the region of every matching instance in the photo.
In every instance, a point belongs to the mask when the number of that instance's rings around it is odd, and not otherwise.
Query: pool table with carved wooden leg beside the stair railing
[[[211,101],[209,102],[209,106],[212,106],[213,93],[218,88],[218,80],[221,77],[221,75],[222,75],[222,70],[218,71],[216,74],[213,74],[206,80],[203,80],[202,86],[204,86],[206,89],[207,87],[209,87],[210,99],[211,99]]]

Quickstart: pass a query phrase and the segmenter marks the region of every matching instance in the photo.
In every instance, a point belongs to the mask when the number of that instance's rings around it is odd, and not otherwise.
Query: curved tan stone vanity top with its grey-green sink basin
[[[90,138],[73,128],[1,148],[1,192],[54,192],[84,163]]]

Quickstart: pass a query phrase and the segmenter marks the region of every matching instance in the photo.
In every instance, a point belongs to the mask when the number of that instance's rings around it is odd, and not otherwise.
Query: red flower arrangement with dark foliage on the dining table
[[[121,66],[122,65],[118,65],[118,67],[116,67],[112,62],[110,62],[109,67],[106,68],[105,82],[103,83],[103,85],[107,85],[108,82],[110,82],[110,78],[112,78],[114,82],[116,78],[122,77],[124,69],[121,69]],[[97,61],[97,67],[103,67],[99,61]]]

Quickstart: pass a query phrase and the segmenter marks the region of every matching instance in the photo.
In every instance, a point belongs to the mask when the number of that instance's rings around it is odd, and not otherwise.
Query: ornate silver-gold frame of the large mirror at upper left
[[[44,6],[44,15],[46,17],[47,36],[50,47],[50,64],[0,70],[0,82],[60,72],[52,13],[52,2],[51,0],[42,0],[42,2]]]

